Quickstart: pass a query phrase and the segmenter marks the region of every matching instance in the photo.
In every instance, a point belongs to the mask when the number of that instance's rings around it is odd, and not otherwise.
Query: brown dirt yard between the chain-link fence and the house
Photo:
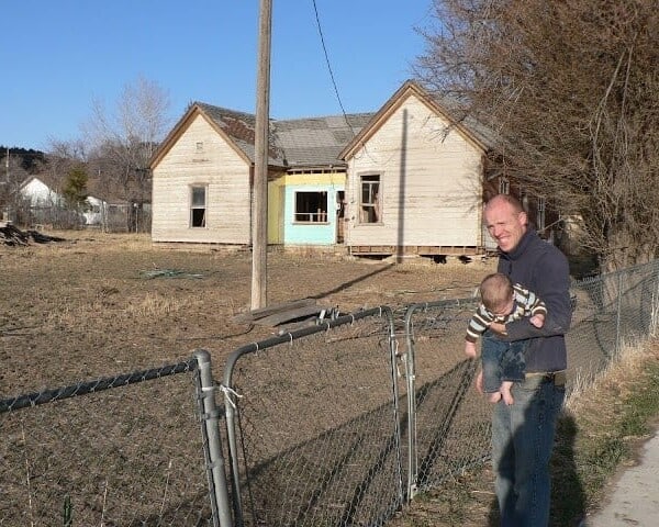
[[[172,363],[198,348],[219,368],[233,349],[281,329],[235,318],[249,310],[248,251],[166,249],[148,235],[44,234],[65,240],[0,246],[2,399]],[[268,305],[313,298],[346,313],[466,298],[493,266],[269,254]]]

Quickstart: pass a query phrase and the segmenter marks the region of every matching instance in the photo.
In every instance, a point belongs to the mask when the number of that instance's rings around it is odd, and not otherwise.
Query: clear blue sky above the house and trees
[[[139,78],[169,98],[255,113],[259,0],[3,1],[0,145],[48,152],[83,137]],[[413,77],[432,0],[272,0],[270,117],[377,111]],[[337,93],[338,92],[338,98]],[[340,104],[339,104],[340,100]]]

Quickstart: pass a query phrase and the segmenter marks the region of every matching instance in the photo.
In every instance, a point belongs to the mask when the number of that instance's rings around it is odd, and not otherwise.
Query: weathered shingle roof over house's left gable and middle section
[[[227,108],[194,102],[177,123],[150,161],[160,161],[192,120],[201,115],[245,159],[255,162],[256,116]],[[282,168],[345,166],[338,154],[369,122],[373,113],[270,120],[269,165]]]

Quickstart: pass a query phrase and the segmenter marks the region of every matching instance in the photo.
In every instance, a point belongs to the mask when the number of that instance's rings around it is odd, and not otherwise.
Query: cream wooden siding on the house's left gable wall
[[[249,244],[249,165],[197,116],[154,168],[152,239]],[[193,184],[208,187],[205,227],[190,226]]]

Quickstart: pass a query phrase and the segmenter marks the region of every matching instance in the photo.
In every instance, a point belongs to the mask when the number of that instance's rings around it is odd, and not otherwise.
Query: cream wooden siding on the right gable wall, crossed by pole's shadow
[[[482,150],[415,96],[348,159],[350,247],[480,247]],[[381,223],[360,224],[359,178],[380,175]]]

